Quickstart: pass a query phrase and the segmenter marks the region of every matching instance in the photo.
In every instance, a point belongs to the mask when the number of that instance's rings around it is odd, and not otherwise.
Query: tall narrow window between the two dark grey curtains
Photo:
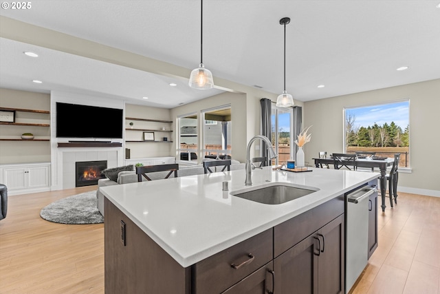
[[[276,162],[272,164],[285,164],[288,159],[292,158],[292,107],[276,107],[272,104],[272,114],[270,116],[271,132],[272,132],[272,146],[278,152]]]

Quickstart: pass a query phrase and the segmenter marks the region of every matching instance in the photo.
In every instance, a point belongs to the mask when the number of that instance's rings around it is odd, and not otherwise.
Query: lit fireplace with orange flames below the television
[[[100,178],[105,178],[101,171],[107,169],[107,160],[77,161],[75,187],[98,185]]]

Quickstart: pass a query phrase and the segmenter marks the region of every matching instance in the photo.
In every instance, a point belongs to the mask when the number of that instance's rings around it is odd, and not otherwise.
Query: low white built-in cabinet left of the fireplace
[[[50,190],[50,162],[2,165],[1,181],[8,195]]]

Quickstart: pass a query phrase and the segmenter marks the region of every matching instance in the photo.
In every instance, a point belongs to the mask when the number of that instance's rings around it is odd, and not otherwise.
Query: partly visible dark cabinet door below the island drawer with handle
[[[275,274],[272,262],[228,288],[223,294],[267,294],[274,293]]]

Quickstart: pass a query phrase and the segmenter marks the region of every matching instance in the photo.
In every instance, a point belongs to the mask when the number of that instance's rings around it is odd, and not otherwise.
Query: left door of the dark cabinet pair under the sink
[[[275,258],[274,293],[318,293],[318,247],[315,233]]]

